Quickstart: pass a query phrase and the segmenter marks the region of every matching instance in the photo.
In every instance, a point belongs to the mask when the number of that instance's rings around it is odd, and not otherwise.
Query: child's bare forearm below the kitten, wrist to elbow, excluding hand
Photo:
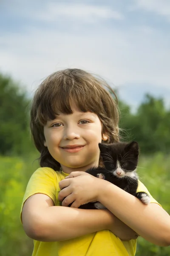
[[[143,204],[138,198],[103,180],[99,202],[139,236],[159,246],[170,245],[170,215],[158,204]],[[113,200],[114,198],[114,200]]]

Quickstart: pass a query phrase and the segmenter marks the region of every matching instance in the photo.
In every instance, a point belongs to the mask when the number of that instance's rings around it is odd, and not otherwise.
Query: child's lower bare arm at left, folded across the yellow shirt
[[[62,241],[109,229],[122,240],[136,239],[136,233],[105,209],[86,210],[54,206],[47,195],[35,194],[23,207],[26,234],[39,241]]]

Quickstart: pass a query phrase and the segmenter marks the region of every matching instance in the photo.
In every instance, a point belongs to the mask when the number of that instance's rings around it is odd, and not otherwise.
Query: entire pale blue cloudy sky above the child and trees
[[[0,1],[0,72],[32,96],[64,68],[102,76],[132,110],[146,93],[169,108],[170,1]]]

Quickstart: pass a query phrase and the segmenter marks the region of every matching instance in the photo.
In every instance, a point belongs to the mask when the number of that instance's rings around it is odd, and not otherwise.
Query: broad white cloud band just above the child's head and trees
[[[27,84],[29,90],[65,67],[91,70],[116,85],[170,86],[170,48],[158,32],[105,30],[88,36],[31,29],[26,35],[8,35],[0,41],[6,45],[0,49],[0,69]]]

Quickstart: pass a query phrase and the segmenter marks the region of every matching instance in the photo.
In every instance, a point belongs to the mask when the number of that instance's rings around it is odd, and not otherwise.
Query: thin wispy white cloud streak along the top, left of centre
[[[56,22],[61,26],[65,20],[79,20],[79,22],[97,22],[99,20],[123,20],[124,15],[116,11],[111,6],[93,5],[85,3],[56,3],[48,1],[46,3],[24,3],[18,0],[17,3],[11,3],[8,6],[8,12],[17,15],[17,17],[27,17],[31,20],[43,22]],[[37,4],[35,7],[34,4]]]

